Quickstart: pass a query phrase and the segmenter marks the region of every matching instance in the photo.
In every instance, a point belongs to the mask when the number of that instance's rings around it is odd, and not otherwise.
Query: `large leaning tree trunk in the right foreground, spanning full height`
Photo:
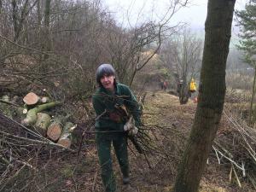
[[[173,191],[198,191],[224,106],[225,67],[236,0],[209,0],[199,103]]]

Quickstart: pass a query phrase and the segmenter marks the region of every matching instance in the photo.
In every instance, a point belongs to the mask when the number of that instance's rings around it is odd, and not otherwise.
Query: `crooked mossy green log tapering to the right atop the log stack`
[[[48,108],[53,108],[56,105],[60,105],[61,102],[49,102],[42,105],[38,105],[36,108],[28,110],[26,113],[26,118],[21,121],[22,125],[33,125],[37,121],[37,113],[44,111]]]

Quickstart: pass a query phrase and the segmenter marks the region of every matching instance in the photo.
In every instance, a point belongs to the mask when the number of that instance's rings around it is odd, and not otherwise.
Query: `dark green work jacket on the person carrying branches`
[[[117,110],[115,106],[120,105],[125,105],[129,113],[133,115],[137,126],[141,125],[141,111],[136,97],[125,84],[116,84],[114,94],[99,87],[92,96],[92,103],[97,117],[106,111],[102,117],[96,120],[96,131],[123,131],[125,121],[116,122],[109,118],[109,113],[114,113]]]

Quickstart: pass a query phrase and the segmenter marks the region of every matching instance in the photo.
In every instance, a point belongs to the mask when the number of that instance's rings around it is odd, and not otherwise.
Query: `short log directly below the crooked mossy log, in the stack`
[[[42,136],[46,136],[47,128],[50,124],[50,116],[47,113],[38,113],[37,114],[37,122],[35,124],[35,129],[38,131]]]

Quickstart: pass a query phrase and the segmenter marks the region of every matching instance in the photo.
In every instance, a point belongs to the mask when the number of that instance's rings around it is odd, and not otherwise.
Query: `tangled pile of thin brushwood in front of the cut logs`
[[[73,149],[43,137],[0,113],[0,191],[38,191],[48,186],[46,175],[55,181],[57,166]],[[51,172],[49,172],[51,170]],[[49,191],[56,191],[50,189]]]

